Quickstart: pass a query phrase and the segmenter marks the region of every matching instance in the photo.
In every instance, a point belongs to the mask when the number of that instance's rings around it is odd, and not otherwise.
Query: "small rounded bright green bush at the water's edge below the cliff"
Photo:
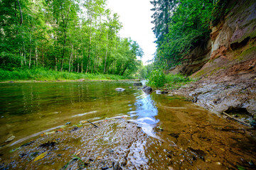
[[[147,86],[162,87],[166,83],[166,77],[161,69],[155,69],[149,74]]]

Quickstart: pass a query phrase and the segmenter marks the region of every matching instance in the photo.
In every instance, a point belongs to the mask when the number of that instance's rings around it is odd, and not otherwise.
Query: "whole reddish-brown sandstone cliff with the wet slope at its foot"
[[[171,70],[200,79],[176,93],[216,113],[256,115],[256,1],[229,1],[210,40]],[[221,12],[220,12],[221,13]],[[256,117],[256,116],[255,116]]]

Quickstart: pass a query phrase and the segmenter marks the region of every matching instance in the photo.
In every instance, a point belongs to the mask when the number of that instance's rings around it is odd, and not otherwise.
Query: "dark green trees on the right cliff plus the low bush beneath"
[[[156,35],[157,50],[154,56],[152,70],[149,74],[149,84],[164,86],[166,76],[163,72],[185,62],[186,56],[198,45],[206,45],[210,38],[210,27],[220,21],[228,12],[228,0],[152,0],[154,11],[152,23]],[[157,77],[155,74],[159,74]],[[186,76],[186,75],[185,75]],[[167,77],[175,77],[167,76]],[[178,75],[178,77],[182,77]],[[186,83],[186,78],[181,78]],[[169,84],[176,84],[175,79],[169,79]],[[178,87],[178,86],[177,86]]]

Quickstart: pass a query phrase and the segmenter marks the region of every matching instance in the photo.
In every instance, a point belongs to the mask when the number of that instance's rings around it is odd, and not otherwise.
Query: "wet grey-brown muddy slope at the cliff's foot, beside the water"
[[[213,113],[228,113],[256,126],[256,81],[247,76],[217,74],[168,92],[169,95],[190,98],[196,105]]]

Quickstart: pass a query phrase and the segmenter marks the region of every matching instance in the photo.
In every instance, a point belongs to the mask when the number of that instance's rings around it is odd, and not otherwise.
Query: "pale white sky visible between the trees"
[[[119,15],[119,21],[123,26],[119,33],[120,37],[130,37],[137,41],[144,52],[144,64],[147,60],[152,60],[156,52],[156,38],[151,30],[154,24],[151,23],[153,12],[150,9],[153,6],[150,0],[108,0],[107,7]]]

